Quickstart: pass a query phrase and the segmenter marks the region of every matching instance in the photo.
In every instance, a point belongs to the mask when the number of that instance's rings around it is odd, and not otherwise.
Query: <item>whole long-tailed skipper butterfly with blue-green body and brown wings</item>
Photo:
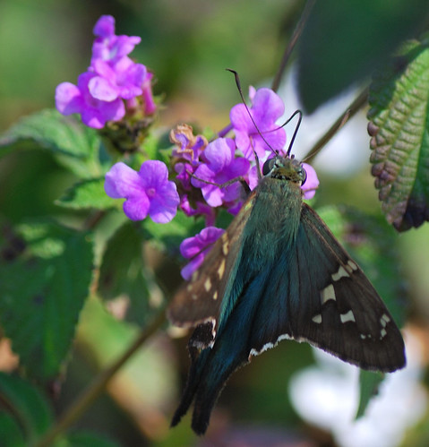
[[[196,326],[172,426],[194,400],[193,431],[204,434],[230,374],[280,340],[307,341],[368,370],[406,364],[382,298],[303,202],[305,169],[290,149],[264,163],[259,185],[169,306],[171,322]]]

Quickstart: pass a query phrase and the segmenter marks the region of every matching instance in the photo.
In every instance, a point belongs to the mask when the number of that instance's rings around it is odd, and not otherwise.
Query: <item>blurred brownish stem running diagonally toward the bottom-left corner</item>
[[[117,373],[117,371],[124,365],[124,363],[133,356],[133,354],[142,347],[142,344],[150,338],[162,324],[166,322],[165,309],[150,322],[139,335],[139,337],[133,341],[133,344],[126,349],[124,354],[119,357],[116,362],[101,371],[88,387],[82,391],[76,400],[65,410],[65,413],[59,417],[55,426],[39,440],[34,447],[47,447],[59,434],[63,434],[73,422],[82,417],[83,413],[90,408],[90,405],[99,398],[99,395],[105,390],[107,383]]]

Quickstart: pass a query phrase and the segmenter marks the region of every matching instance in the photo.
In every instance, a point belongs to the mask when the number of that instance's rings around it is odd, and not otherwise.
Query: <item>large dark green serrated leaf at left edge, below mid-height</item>
[[[46,382],[68,353],[89,294],[92,241],[46,222],[22,224],[16,234],[1,244],[0,322],[27,374]]]

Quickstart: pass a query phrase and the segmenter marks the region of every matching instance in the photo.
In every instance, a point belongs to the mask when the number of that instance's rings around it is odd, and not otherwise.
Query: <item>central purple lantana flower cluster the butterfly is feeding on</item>
[[[232,214],[240,210],[244,191],[238,179],[250,189],[258,184],[261,174],[256,171],[255,154],[262,163],[273,154],[271,148],[281,152],[286,143],[285,130],[276,125],[284,111],[283,101],[270,89],[252,90],[251,98],[249,110],[253,120],[243,104],[231,110],[235,139],[219,137],[208,142],[204,136],[194,135],[189,125],[179,125],[171,131],[170,140],[175,144],[171,174],[176,184],[168,181],[167,167],[160,161],[146,161],[139,173],[117,163],[107,173],[106,192],[111,197],[126,199],[124,212],[130,219],[144,219],[149,214],[156,222],[167,222],[173,219],[177,207],[187,216],[205,219],[206,228],[185,239],[180,247],[190,260],[182,271],[185,279],[192,276],[223,233],[213,226],[215,210],[223,207]],[[311,198],[319,181],[313,168],[304,168],[307,180],[303,192],[305,198]]]

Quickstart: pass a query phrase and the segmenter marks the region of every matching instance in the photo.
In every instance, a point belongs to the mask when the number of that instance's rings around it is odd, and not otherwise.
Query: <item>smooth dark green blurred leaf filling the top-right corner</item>
[[[311,113],[365,80],[425,20],[425,0],[316,2],[301,36],[298,89]]]

